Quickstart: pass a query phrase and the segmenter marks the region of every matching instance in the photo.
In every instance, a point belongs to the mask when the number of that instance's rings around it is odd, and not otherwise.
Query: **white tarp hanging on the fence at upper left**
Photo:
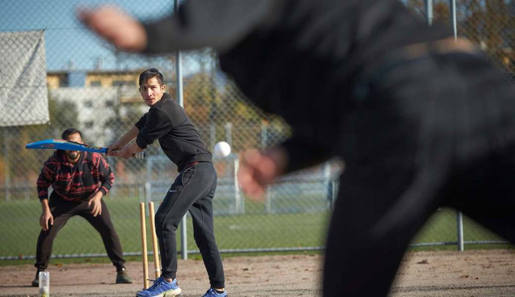
[[[44,31],[0,32],[0,127],[48,121]]]

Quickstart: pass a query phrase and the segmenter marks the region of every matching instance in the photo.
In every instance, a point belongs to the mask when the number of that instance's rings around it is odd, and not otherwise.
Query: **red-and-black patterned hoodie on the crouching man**
[[[38,178],[38,196],[48,199],[48,187],[56,196],[66,201],[87,200],[96,191],[106,195],[111,189],[114,174],[99,153],[81,152],[77,163],[68,162],[64,151],[57,150],[41,169]]]

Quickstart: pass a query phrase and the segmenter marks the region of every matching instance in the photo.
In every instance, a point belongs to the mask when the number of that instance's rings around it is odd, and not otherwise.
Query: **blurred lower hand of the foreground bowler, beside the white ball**
[[[267,152],[250,149],[239,165],[238,181],[242,190],[253,200],[262,200],[266,186],[280,176],[286,167],[287,154],[281,148]]]

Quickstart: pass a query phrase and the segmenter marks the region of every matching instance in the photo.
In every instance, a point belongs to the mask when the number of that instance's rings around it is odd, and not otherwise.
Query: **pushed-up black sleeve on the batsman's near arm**
[[[147,145],[168,133],[171,128],[173,128],[173,124],[171,123],[170,118],[163,111],[157,108],[150,108],[145,121],[145,126],[140,129],[140,133],[138,133],[138,136],[136,137],[136,144],[138,144],[140,148],[144,149]]]

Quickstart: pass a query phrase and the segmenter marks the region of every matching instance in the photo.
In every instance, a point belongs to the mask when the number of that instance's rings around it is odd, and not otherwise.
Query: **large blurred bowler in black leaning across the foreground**
[[[285,143],[245,154],[239,181],[249,195],[344,159],[324,296],[386,296],[411,239],[442,205],[515,242],[512,82],[399,1],[191,0],[146,24],[112,7],[79,17],[123,50],[215,48],[247,98],[291,125]]]

